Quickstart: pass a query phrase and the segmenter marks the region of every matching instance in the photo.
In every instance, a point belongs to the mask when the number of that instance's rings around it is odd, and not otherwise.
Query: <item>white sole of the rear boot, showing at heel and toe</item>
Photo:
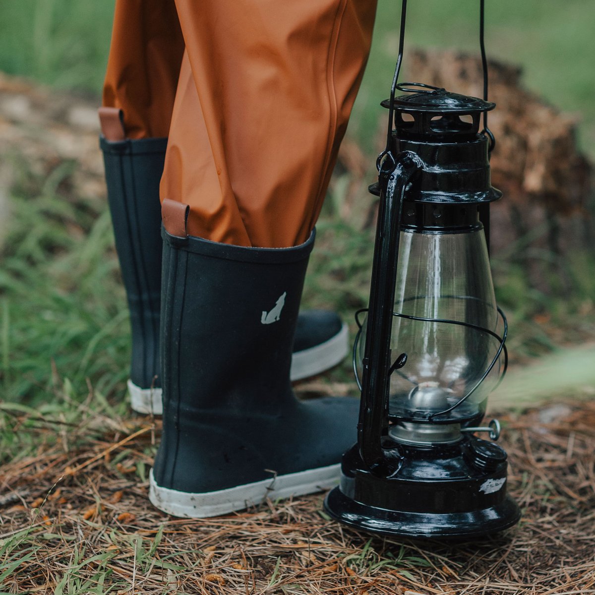
[[[343,323],[334,337],[310,349],[303,349],[292,356],[289,378],[292,382],[321,374],[340,364],[349,349],[349,329]],[[162,415],[161,389],[141,389],[133,381],[128,381],[130,405],[134,411],[143,414]]]

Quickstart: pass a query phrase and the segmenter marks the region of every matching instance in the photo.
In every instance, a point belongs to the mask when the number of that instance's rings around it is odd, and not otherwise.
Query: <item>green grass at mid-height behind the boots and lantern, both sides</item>
[[[47,403],[57,387],[75,402],[89,386],[118,400],[125,392],[129,321],[111,221],[104,201],[71,195],[68,178],[74,167],[63,162],[39,177],[14,159],[19,176],[0,249],[0,390],[6,400]],[[350,217],[339,217],[345,201],[339,190],[317,227],[303,303],[336,309],[355,332],[353,313],[368,300],[374,231],[361,230],[365,203]],[[538,355],[555,349],[555,340],[533,321],[535,315],[550,312],[555,324],[571,321],[569,328],[593,318],[595,263],[589,253],[573,255],[569,297],[559,300],[531,287],[523,255],[517,250],[515,260],[494,261],[494,277],[511,319],[511,346]],[[572,340],[568,333],[565,339]],[[350,363],[334,375],[351,383]]]

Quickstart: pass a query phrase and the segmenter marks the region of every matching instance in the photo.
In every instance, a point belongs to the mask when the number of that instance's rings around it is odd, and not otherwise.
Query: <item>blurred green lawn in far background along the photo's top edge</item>
[[[493,0],[486,5],[488,57],[522,65],[531,89],[576,113],[583,120],[583,148],[595,156],[593,1]],[[113,7],[114,0],[4,0],[0,70],[98,95]],[[350,125],[367,152],[375,149],[378,103],[392,80],[399,14],[398,1],[378,2],[372,52]],[[411,1],[406,52],[414,45],[478,52],[477,25],[477,0]]]

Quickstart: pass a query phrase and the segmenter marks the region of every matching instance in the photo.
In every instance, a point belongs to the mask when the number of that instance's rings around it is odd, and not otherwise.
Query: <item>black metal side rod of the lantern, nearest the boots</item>
[[[389,164],[388,159],[383,161],[379,176],[383,191],[374,243],[368,328],[362,360],[358,445],[362,461],[371,470],[384,461],[380,438],[389,420],[390,337],[405,189],[424,165],[418,155],[409,151],[400,153],[392,161],[393,164]]]

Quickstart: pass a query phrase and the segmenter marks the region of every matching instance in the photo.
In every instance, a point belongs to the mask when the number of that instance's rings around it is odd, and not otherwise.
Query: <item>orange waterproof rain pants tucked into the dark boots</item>
[[[161,201],[187,233],[308,238],[371,43],[375,0],[117,0],[104,106],[168,136]]]

